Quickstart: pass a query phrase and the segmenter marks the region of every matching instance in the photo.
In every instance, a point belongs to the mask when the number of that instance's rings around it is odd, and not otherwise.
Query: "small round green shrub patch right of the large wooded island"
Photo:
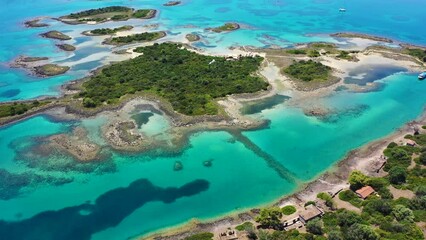
[[[305,82],[326,81],[331,76],[331,68],[312,60],[294,61],[284,69],[284,73]]]

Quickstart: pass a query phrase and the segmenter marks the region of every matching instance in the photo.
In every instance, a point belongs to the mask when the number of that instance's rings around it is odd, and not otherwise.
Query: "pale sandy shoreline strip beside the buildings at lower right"
[[[289,204],[303,206],[304,203],[315,200],[317,194],[320,192],[336,193],[342,188],[348,188],[349,183],[347,179],[349,174],[354,170],[359,170],[368,176],[383,176],[383,170],[380,170],[379,173],[376,172],[376,169],[378,169],[377,160],[389,143],[402,143],[404,136],[413,132],[413,125],[426,125],[426,107],[415,120],[406,123],[387,136],[373,140],[348,152],[345,157],[327,170],[319,173],[310,181],[296,188],[293,192],[281,196],[272,202],[258,205],[256,208],[235,210],[207,220],[191,219],[186,223],[148,232],[134,239],[174,240],[184,239],[200,232],[217,232],[218,230],[235,227],[245,221],[254,220],[255,214],[262,206],[272,205],[282,207]]]

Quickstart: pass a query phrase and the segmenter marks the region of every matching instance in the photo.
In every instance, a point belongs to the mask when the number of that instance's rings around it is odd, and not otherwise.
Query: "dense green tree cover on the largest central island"
[[[83,84],[79,96],[93,101],[95,107],[144,91],[167,99],[180,113],[201,115],[217,113],[215,98],[256,92],[268,86],[254,75],[261,57],[226,61],[173,43],[154,44],[135,51],[143,55],[104,68]]]

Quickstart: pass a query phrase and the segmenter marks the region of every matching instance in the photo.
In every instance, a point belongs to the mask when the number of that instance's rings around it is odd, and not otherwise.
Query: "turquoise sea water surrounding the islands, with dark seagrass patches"
[[[52,24],[25,29],[24,20],[36,16],[61,16],[87,8],[128,5],[159,9],[159,17],[134,21],[142,26],[159,23],[170,30],[168,40],[196,32],[205,38],[199,46],[220,52],[232,45],[289,47],[294,43],[344,40],[327,33],[351,31],[379,34],[400,41],[426,44],[417,35],[426,22],[426,2],[393,0],[263,0],[183,1],[166,8],[158,1],[2,1],[0,21],[0,100],[32,99],[59,95],[59,86],[86,75],[109,60],[110,47],[102,38],[81,37],[93,26]],[[338,8],[348,12],[341,14]],[[236,21],[244,28],[229,34],[211,34],[203,28]],[[107,23],[102,26],[118,26]],[[392,27],[390,27],[392,26]],[[75,53],[58,51],[54,41],[40,38],[47,29],[74,37]],[[395,31],[398,29],[398,31]],[[72,66],[66,75],[52,78],[28,76],[10,69],[7,62],[19,54],[49,56]],[[358,73],[354,73],[355,75]],[[242,132],[194,133],[177,153],[161,149],[124,154],[110,150],[100,136],[105,117],[58,121],[39,115],[0,128],[0,236],[7,239],[127,239],[161,228],[183,224],[192,218],[208,220],[273,202],[295,191],[342,159],[349,151],[384,137],[417,118],[426,103],[426,84],[414,74],[377,74],[380,88],[368,92],[336,91],[313,100],[334,109],[323,118],[306,116],[285,98],[280,104],[251,113],[270,121],[268,127]],[[370,75],[371,78],[371,75]],[[274,102],[277,103],[277,102]],[[308,103],[307,103],[308,104]],[[134,117],[140,131],[165,137],[170,126],[156,112]],[[103,146],[104,160],[76,163],[51,151],[45,137],[68,133],[76,126],[89,132]],[[237,134],[238,135],[238,134]],[[251,146],[251,147],[250,147]],[[255,147],[253,147],[255,146]],[[211,167],[203,165],[210,160]],[[176,161],[183,169],[174,171]],[[278,163],[289,177],[268,165]]]

